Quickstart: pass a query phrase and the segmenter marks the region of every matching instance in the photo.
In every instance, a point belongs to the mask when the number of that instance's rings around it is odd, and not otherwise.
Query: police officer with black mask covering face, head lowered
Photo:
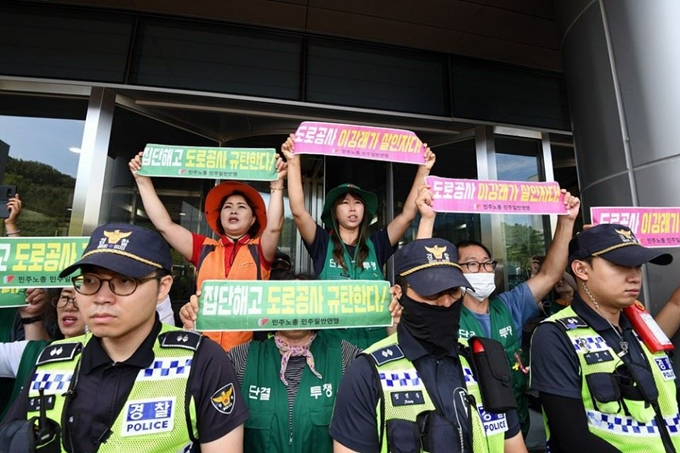
[[[470,284],[455,246],[415,240],[394,263],[401,322],[345,373],[330,428],[334,452],[526,452],[516,412],[485,408],[482,380],[459,344],[461,287]],[[507,359],[494,343],[514,405]]]

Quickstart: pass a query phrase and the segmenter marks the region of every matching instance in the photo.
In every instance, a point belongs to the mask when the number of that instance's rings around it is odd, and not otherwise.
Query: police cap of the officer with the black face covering
[[[416,239],[394,255],[397,274],[422,296],[458,286],[472,288],[458,264],[456,246],[444,239]]]

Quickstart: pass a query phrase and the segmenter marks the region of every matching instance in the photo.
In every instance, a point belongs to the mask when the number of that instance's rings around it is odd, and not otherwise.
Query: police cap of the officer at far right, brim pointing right
[[[594,226],[569,242],[569,264],[597,256],[620,266],[671,264],[673,255],[640,245],[630,228],[615,223]]]

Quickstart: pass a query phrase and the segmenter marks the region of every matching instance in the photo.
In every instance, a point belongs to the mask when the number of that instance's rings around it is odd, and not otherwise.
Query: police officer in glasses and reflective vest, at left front
[[[249,413],[216,343],[162,325],[156,304],[172,285],[172,258],[157,233],[135,225],[95,229],[73,277],[91,333],[55,342],[5,417],[44,404],[61,424],[62,449],[242,452]],[[43,393],[44,396],[40,396]]]

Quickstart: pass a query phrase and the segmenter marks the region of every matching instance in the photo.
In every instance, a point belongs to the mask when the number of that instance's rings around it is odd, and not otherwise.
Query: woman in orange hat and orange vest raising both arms
[[[287,164],[277,155],[278,179],[270,184],[269,211],[260,193],[247,184],[227,181],[213,187],[205,199],[205,217],[219,236],[214,240],[175,223],[156,194],[151,178],[137,174],[140,152],[130,160],[130,171],[151,222],[172,248],[196,266],[196,286],[204,280],[267,280],[283,229],[283,182]],[[193,317],[193,316],[192,316]],[[225,349],[252,338],[252,332],[207,332]]]

